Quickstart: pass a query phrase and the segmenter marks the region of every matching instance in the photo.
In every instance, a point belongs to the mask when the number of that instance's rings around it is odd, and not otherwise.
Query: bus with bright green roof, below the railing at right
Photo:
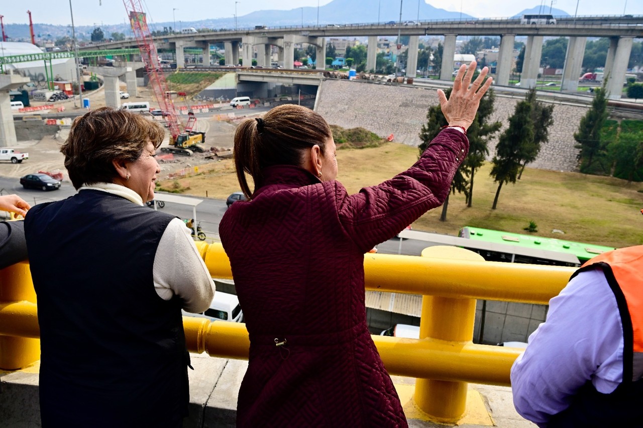
[[[574,266],[577,265],[577,263],[575,263],[573,257],[578,260],[578,263],[583,264],[597,254],[615,249],[614,247],[606,247],[604,245],[583,244],[582,242],[544,238],[543,236],[525,235],[522,233],[511,233],[471,226],[462,227],[459,236],[471,240],[472,244],[473,242],[477,242],[478,245],[475,245],[475,247],[473,247],[473,245],[471,245],[471,247],[469,245],[462,246],[476,251],[476,253],[483,256],[485,260],[492,262]],[[480,244],[483,246],[481,247]],[[506,245],[510,245],[516,248],[516,251],[512,253],[498,251],[498,249],[493,248],[494,244],[502,245],[503,249],[507,248]],[[543,257],[541,254],[546,255]],[[552,256],[552,254],[559,254],[559,256]]]

